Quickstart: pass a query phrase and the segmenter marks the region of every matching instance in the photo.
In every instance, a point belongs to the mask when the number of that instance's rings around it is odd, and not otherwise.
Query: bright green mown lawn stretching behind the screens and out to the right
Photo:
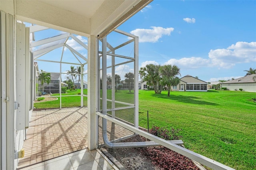
[[[71,91],[62,95],[77,95]],[[84,90],[87,94],[87,90]],[[58,94],[56,94],[58,95]],[[118,91],[116,100],[133,103],[133,91]],[[111,92],[108,91],[108,99]],[[139,125],[182,128],[186,148],[240,170],[256,169],[256,93],[244,91],[179,92],[139,91]],[[36,108],[59,108],[56,101],[35,103]],[[87,105],[87,97],[84,97]],[[80,96],[62,97],[62,107],[80,106]],[[122,107],[124,105],[116,105]],[[111,103],[108,102],[108,108]],[[133,109],[116,111],[133,123]]]

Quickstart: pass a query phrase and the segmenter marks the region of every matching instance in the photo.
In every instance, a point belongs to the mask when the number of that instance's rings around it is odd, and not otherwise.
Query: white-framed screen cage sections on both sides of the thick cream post
[[[38,25],[30,26],[32,38],[39,37],[38,34],[43,34],[47,29]],[[87,82],[87,42],[87,38],[70,33],[30,42],[30,51],[37,68],[35,99],[54,95],[59,99],[59,105],[53,105],[52,108],[61,109],[63,102],[73,101],[63,100],[64,98],[76,96],[76,104],[72,107],[87,106],[87,93],[84,93],[83,88],[83,83]],[[138,75],[138,37],[114,30],[98,43],[98,111],[105,110],[108,115],[138,127],[138,116],[135,116],[136,111],[138,112],[138,76],[134,76]],[[72,71],[71,67],[76,71]],[[81,71],[78,71],[78,67]],[[39,77],[47,73],[51,77],[50,82],[42,83]],[[80,93],[69,95],[62,91],[62,87],[67,87],[63,82],[67,79],[78,80]],[[76,90],[69,88],[68,91]],[[124,97],[120,91],[129,93]],[[102,99],[107,101],[106,105]],[[65,104],[64,106],[66,107]]]

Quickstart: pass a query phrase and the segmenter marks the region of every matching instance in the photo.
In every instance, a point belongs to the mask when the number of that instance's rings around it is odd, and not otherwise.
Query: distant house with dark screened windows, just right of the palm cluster
[[[207,84],[205,81],[186,75],[180,78],[180,83],[172,86],[172,91],[207,91]]]

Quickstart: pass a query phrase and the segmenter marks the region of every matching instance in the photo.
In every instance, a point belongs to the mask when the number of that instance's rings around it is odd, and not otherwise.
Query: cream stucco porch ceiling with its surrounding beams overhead
[[[103,37],[152,0],[16,0],[18,20]]]

